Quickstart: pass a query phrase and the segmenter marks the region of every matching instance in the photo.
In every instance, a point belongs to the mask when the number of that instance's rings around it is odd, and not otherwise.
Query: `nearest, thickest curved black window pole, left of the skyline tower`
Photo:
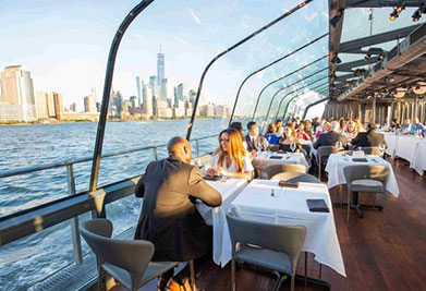
[[[105,84],[104,84],[102,105],[100,107],[98,130],[96,133],[94,159],[92,165],[90,185],[89,185],[90,192],[96,191],[98,184],[99,163],[100,163],[100,157],[102,155],[105,125],[107,123],[108,105],[109,105],[109,97],[111,95],[111,84],[112,84],[112,77],[114,72],[117,52],[119,50],[121,39],[123,38],[123,35],[127,29],[129,25],[142,11],[144,11],[153,2],[154,0],[141,1],[141,3],[134,7],[131,12],[129,12],[129,14],[125,16],[123,22],[120,24],[120,27],[115,33],[115,36],[111,44],[111,48],[109,50],[107,72],[106,72]]]

